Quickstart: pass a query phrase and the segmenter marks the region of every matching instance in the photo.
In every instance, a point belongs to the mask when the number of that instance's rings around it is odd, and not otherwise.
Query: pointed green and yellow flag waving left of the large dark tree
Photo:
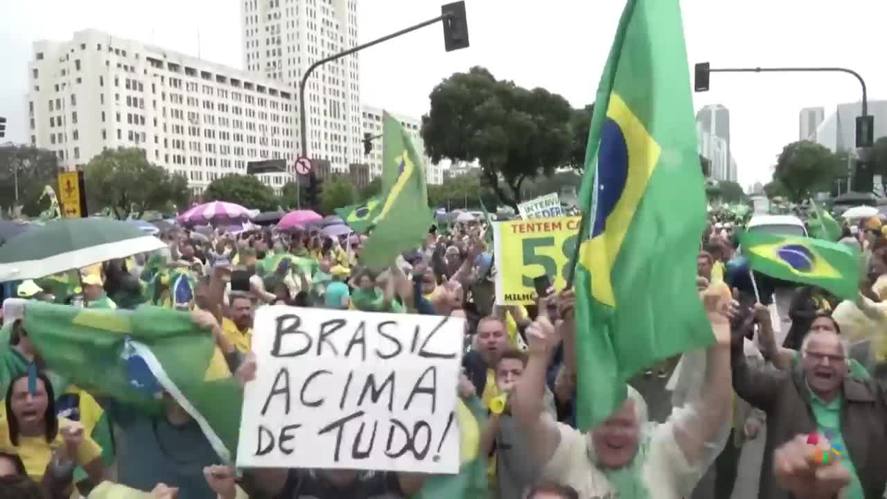
[[[434,219],[428,208],[422,157],[400,122],[384,113],[382,178],[393,176],[392,171],[396,181],[382,191],[385,202],[373,218],[373,232],[360,252],[361,265],[380,268],[393,264],[401,251],[414,249],[425,240]]]

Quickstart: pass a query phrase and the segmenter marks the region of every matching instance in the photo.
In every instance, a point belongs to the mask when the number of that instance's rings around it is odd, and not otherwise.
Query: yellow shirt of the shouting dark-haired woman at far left
[[[43,479],[43,472],[46,471],[46,465],[52,459],[52,451],[65,445],[65,441],[61,437],[61,428],[66,424],[71,424],[68,419],[59,419],[59,432],[56,434],[55,440],[47,442],[43,437],[24,437],[19,436],[19,445],[13,446],[12,440],[9,438],[9,430],[6,425],[6,416],[2,416],[3,430],[0,430],[0,451],[9,454],[18,454],[21,462],[25,463],[27,476],[35,482]],[[75,463],[80,466],[86,466],[92,461],[98,459],[102,454],[102,449],[98,447],[95,440],[92,440],[88,433],[83,433],[83,442],[77,448]]]

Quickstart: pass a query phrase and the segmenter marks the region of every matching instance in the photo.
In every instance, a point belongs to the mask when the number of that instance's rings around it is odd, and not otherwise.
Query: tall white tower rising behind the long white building
[[[298,87],[317,60],[357,45],[357,0],[240,0],[240,13],[244,67],[288,86]],[[306,85],[305,107],[306,155],[346,173],[361,162],[357,55],[318,67]]]

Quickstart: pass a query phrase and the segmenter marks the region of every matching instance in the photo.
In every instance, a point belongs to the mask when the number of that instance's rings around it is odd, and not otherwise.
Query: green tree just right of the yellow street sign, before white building
[[[183,175],[170,175],[136,147],[102,151],[87,163],[84,175],[90,213],[110,208],[118,218],[138,218],[146,210],[184,209],[190,199]]]

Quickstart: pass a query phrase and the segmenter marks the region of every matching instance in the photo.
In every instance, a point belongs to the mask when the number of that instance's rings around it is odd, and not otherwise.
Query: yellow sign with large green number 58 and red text
[[[497,305],[532,305],[533,279],[543,274],[555,289],[567,285],[580,220],[533,218],[493,224]]]

